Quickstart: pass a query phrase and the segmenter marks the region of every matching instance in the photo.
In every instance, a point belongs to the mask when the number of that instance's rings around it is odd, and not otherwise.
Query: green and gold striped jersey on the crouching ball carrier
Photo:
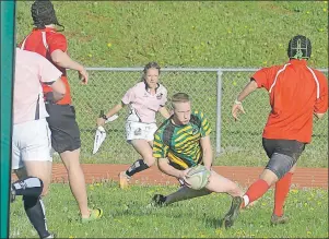
[[[177,169],[196,166],[202,162],[200,139],[210,132],[209,121],[200,111],[193,111],[185,126],[174,124],[171,117],[154,134],[153,157],[168,158]]]

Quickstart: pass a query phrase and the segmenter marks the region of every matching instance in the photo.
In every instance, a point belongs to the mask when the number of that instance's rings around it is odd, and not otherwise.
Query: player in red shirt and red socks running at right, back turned
[[[257,71],[233,105],[232,115],[237,120],[237,115],[245,112],[242,101],[255,89],[265,87],[269,92],[272,110],[262,133],[269,163],[245,195],[233,199],[223,219],[225,227],[233,225],[242,207],[261,198],[274,183],[271,224],[287,222],[283,204],[297,159],[305,145],[310,143],[314,116],[320,119],[328,110],[327,79],[321,72],[307,67],[310,52],[310,40],[305,36],[294,36],[287,47],[290,61]]]

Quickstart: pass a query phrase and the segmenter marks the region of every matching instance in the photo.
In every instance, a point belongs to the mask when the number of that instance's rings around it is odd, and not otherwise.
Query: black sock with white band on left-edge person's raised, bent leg
[[[28,177],[13,182],[12,189],[15,191],[15,195],[38,198],[43,192],[44,183],[39,178]]]

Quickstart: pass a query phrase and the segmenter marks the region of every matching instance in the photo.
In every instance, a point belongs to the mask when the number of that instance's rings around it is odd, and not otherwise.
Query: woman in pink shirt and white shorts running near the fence
[[[142,158],[119,174],[121,189],[128,187],[129,180],[134,174],[148,169],[155,163],[155,158],[152,156],[153,135],[157,129],[155,113],[160,112],[164,118],[169,118],[169,112],[165,107],[167,89],[158,83],[158,76],[160,65],[156,62],[149,62],[144,67],[142,81],[129,88],[118,105],[97,119],[97,126],[103,127],[109,117],[113,117],[126,105],[129,106],[126,138]]]

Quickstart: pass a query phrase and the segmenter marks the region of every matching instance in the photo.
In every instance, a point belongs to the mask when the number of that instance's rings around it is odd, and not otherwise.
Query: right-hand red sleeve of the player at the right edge
[[[315,71],[315,74],[319,81],[320,97],[315,103],[314,111],[325,113],[328,110],[328,82],[321,72]]]

